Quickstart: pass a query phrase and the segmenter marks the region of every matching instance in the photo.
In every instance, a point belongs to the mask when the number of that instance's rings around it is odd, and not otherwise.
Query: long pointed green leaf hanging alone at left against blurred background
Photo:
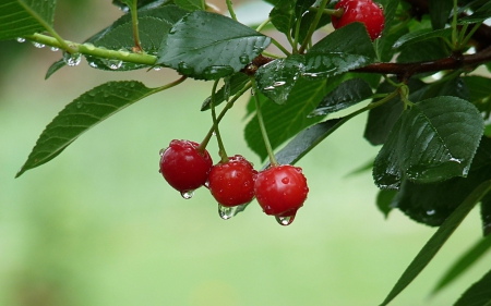
[[[15,178],[57,157],[85,131],[121,109],[156,93],[140,82],[108,82],[67,105],[43,131]]]

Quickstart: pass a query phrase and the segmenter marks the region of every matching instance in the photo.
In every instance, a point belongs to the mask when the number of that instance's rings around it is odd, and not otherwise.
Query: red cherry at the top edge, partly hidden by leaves
[[[334,28],[343,27],[352,22],[361,22],[367,27],[370,38],[374,40],[384,29],[383,10],[372,0],[340,0],[335,9],[344,9],[340,17],[331,16]]]

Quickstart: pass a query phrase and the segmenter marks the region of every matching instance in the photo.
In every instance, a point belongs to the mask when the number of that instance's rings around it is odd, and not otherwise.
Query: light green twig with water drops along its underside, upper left
[[[93,56],[97,58],[105,58],[105,59],[118,59],[123,62],[130,62],[130,63],[137,63],[137,64],[145,64],[145,65],[155,65],[155,62],[157,61],[157,58],[149,54],[144,53],[130,53],[127,52],[119,52],[115,50],[107,50],[107,49],[100,49],[95,47],[92,44],[77,44],[77,42],[71,42],[68,40],[63,40],[64,44],[60,44],[58,39],[43,35],[43,34],[34,34],[34,35],[26,35],[24,38],[29,39],[32,41],[37,41],[47,46],[57,47],[62,50],[65,50],[67,52],[72,53],[82,53],[87,56]],[[69,49],[67,49],[67,47]]]

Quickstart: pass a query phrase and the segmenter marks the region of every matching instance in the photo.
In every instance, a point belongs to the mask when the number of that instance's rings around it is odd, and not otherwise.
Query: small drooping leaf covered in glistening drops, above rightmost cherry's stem
[[[255,73],[258,87],[272,101],[284,105],[291,89],[304,72],[304,59],[290,56],[262,65]]]

